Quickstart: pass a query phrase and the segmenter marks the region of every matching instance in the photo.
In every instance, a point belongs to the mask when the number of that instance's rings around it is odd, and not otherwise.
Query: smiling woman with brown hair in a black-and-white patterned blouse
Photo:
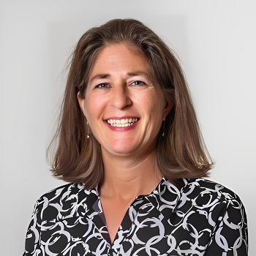
[[[54,176],[24,255],[247,255],[244,206],[212,162],[174,53],[137,20],[80,38]],[[53,143],[51,144],[53,146]]]

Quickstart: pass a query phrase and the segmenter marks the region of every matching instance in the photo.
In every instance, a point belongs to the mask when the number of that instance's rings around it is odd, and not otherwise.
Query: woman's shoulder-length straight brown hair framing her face
[[[132,19],[110,20],[89,29],[76,45],[59,126],[48,148],[48,156],[53,157],[53,175],[64,181],[83,182],[90,188],[102,184],[101,148],[93,135],[86,138],[86,117],[80,110],[77,94],[80,92],[80,97],[85,97],[89,75],[99,51],[115,43],[135,46],[146,55],[154,80],[165,99],[174,102],[157,139],[157,165],[162,176],[169,180],[203,176],[213,164],[200,133],[181,66],[173,50],[157,34]]]

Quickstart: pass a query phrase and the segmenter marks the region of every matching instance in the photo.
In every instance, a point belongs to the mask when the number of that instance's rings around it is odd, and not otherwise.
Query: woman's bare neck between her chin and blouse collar
[[[105,177],[100,195],[129,200],[151,193],[162,178],[155,155],[155,151],[152,151],[146,157],[135,159],[113,156],[103,150]]]

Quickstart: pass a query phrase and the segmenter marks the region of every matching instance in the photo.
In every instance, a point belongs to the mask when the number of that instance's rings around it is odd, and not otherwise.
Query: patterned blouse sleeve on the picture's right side
[[[227,201],[224,214],[214,228],[206,256],[248,255],[246,213],[238,196]]]

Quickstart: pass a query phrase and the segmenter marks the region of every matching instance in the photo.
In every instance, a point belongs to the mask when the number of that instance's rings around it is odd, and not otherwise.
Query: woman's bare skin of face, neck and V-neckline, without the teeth
[[[99,196],[111,242],[135,197],[151,193],[162,178],[155,164],[157,135],[173,102],[165,101],[148,74],[148,60],[138,50],[108,45],[97,57],[85,99],[78,93],[102,147],[105,179]],[[124,117],[138,122],[124,129],[107,122]]]

